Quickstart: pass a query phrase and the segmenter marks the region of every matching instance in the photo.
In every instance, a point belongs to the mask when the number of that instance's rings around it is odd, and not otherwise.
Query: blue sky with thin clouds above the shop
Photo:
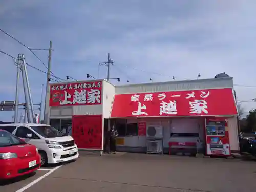
[[[108,53],[115,61],[114,84],[212,78],[226,72],[234,77],[238,100],[256,97],[256,4],[238,1],[118,1],[2,0],[0,27],[31,48],[48,48],[53,41],[52,71],[61,78],[86,74],[106,78],[98,63]],[[46,68],[13,39],[0,33],[0,50]],[[48,53],[36,54],[47,63]],[[14,100],[16,68],[0,54],[0,100]],[[33,102],[40,102],[46,75],[28,69]],[[20,95],[20,102],[23,102]],[[245,111],[256,108],[242,104]],[[13,112],[1,112],[11,120]]]

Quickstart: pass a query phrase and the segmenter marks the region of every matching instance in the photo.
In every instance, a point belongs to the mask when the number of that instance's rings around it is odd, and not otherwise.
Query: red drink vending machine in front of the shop
[[[230,156],[228,123],[225,118],[205,118],[206,154]]]

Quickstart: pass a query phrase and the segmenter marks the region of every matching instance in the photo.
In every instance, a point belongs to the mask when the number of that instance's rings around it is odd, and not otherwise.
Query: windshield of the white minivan
[[[31,128],[38,133],[39,135],[41,135],[42,137],[45,138],[53,138],[53,137],[63,137],[66,136],[65,134],[63,134],[62,132],[56,130],[54,127],[52,126],[31,126]]]

